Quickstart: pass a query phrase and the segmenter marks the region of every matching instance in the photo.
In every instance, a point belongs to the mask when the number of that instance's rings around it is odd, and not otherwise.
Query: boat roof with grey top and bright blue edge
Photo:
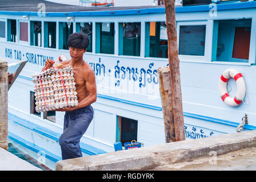
[[[46,16],[104,16],[104,15],[128,15],[165,13],[165,6],[127,6],[127,7],[85,7],[66,5],[43,0],[0,0],[0,14],[13,15],[37,15],[39,3],[44,3]],[[229,2],[217,5],[217,10],[250,9],[256,7],[256,1]],[[210,11],[210,5],[176,7],[177,13]],[[29,10],[29,11],[28,11]]]

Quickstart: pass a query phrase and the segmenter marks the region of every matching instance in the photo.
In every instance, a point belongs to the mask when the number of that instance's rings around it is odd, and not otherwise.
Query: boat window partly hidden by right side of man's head
[[[85,22],[77,23],[77,32],[83,32],[88,35],[90,42],[86,52],[92,52],[93,51],[93,47],[92,47],[93,23],[85,23]]]

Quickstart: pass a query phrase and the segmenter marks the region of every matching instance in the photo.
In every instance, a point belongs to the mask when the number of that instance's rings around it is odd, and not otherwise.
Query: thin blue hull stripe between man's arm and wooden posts
[[[149,109],[162,110],[162,107],[148,105],[148,104],[142,104],[142,103],[139,103],[139,102],[134,102],[134,101],[129,101],[129,100],[124,100],[122,98],[105,96],[105,95],[102,95],[102,94],[97,94],[97,97],[106,98],[106,99],[109,99],[109,100],[112,100],[112,101],[122,102],[122,103],[125,103],[125,104],[135,105],[135,106],[139,106],[139,107],[146,107],[146,108],[149,108]]]

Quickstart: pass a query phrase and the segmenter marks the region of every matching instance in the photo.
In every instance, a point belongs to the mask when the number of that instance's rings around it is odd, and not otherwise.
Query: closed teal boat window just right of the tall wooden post
[[[179,55],[205,55],[206,25],[179,27]]]

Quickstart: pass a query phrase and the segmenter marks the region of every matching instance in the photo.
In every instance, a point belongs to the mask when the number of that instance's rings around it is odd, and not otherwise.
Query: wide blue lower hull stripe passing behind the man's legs
[[[39,125],[36,125],[34,123],[31,123],[29,121],[26,121],[25,119],[19,118],[17,115],[8,113],[8,120],[14,122],[15,124],[25,127],[26,129],[32,130],[35,133],[41,134],[47,138],[53,139],[56,142],[58,142],[59,137],[61,136],[60,133],[57,133],[53,130],[49,130],[46,127],[42,127]],[[90,146],[89,144],[80,143],[81,151],[88,155],[97,155],[97,154],[104,154],[106,151],[103,151],[99,148]]]

